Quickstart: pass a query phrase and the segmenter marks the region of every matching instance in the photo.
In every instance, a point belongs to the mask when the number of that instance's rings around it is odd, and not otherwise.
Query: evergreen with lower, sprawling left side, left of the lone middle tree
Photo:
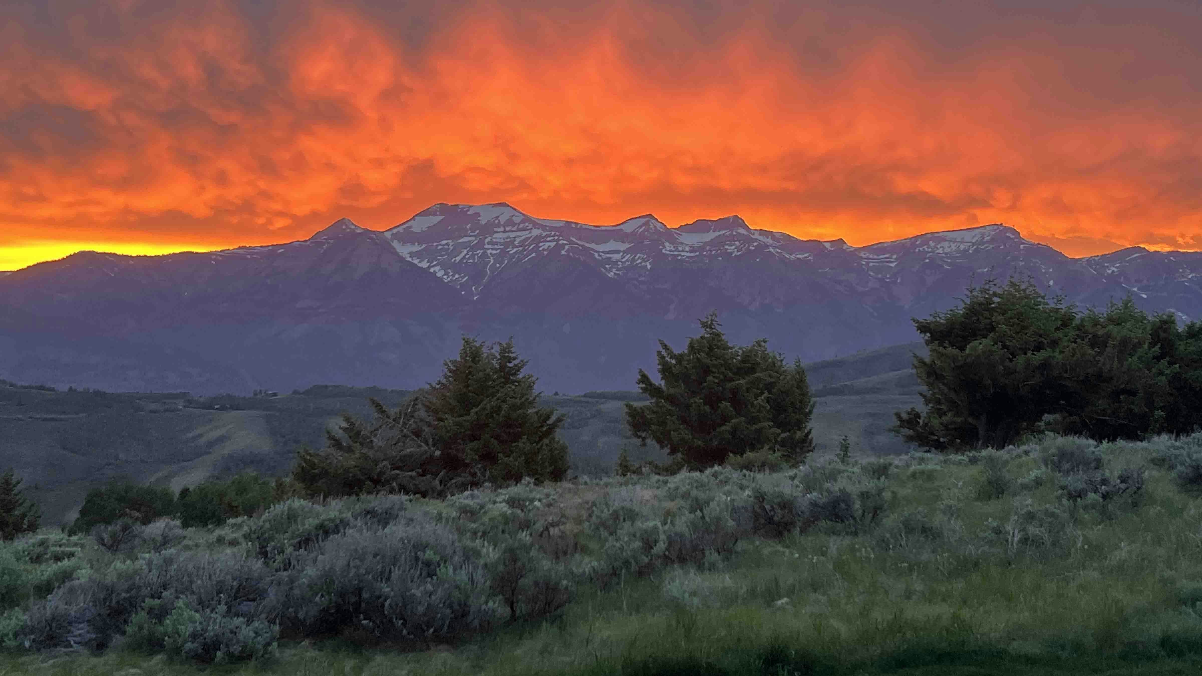
[[[310,494],[403,492],[445,496],[567,474],[564,416],[537,408],[535,378],[513,342],[465,337],[438,381],[395,411],[371,399],[374,420],[343,415],[321,451],[302,449],[292,479]]]

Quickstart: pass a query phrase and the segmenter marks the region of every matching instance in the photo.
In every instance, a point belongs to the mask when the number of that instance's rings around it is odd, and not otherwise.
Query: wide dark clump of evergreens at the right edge
[[[989,281],[960,307],[916,319],[926,411],[894,414],[935,450],[1002,447],[1054,431],[1099,440],[1189,433],[1202,425],[1202,327],[1148,316],[1129,297],[1078,314],[1030,283]]]

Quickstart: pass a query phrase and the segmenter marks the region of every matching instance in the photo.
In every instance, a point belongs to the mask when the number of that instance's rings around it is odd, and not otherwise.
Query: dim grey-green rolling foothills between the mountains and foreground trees
[[[808,364],[815,393],[826,395],[817,398],[814,417],[819,455],[834,453],[843,435],[856,453],[908,450],[888,426],[894,410],[920,404],[912,374],[895,370],[898,364],[908,368],[911,349],[898,345]],[[843,380],[832,385],[832,379]],[[190,399],[162,393],[41,392],[0,384],[0,453],[25,478],[44,523],[58,524],[75,517],[89,488],[114,476],[178,490],[242,469],[282,474],[296,447],[320,446],[326,427],[335,425],[341,411],[367,416],[368,396],[395,405],[405,395],[316,386],[303,395],[270,399]],[[577,473],[608,474],[623,447],[636,461],[666,457],[654,445],[639,447],[626,434],[623,393],[593,395],[543,397],[545,405],[567,415],[561,437]],[[227,405],[246,410],[224,410]]]

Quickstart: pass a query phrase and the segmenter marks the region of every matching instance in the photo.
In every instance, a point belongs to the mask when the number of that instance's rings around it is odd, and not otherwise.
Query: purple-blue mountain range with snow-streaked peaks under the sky
[[[756,230],[737,215],[596,226],[506,203],[439,203],[386,231],[338,220],[226,251],[81,251],[0,274],[0,378],[109,391],[415,387],[463,334],[513,337],[546,391],[629,390],[657,339],[718,310],[737,343],[816,361],[917,338],[911,318],[974,281],[1033,279],[1082,307],[1131,295],[1202,318],[1202,253],[1072,259],[1005,225],[868,247]]]

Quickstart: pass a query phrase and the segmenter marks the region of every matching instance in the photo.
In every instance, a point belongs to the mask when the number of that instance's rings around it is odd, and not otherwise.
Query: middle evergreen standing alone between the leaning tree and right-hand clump
[[[638,389],[651,401],[625,404],[631,434],[644,445],[654,440],[689,468],[750,451],[779,452],[795,462],[811,452],[814,402],[801,361],[786,366],[764,339],[732,345],[716,313],[700,324],[701,336],[682,352],[660,340],[662,383],[638,370]]]

